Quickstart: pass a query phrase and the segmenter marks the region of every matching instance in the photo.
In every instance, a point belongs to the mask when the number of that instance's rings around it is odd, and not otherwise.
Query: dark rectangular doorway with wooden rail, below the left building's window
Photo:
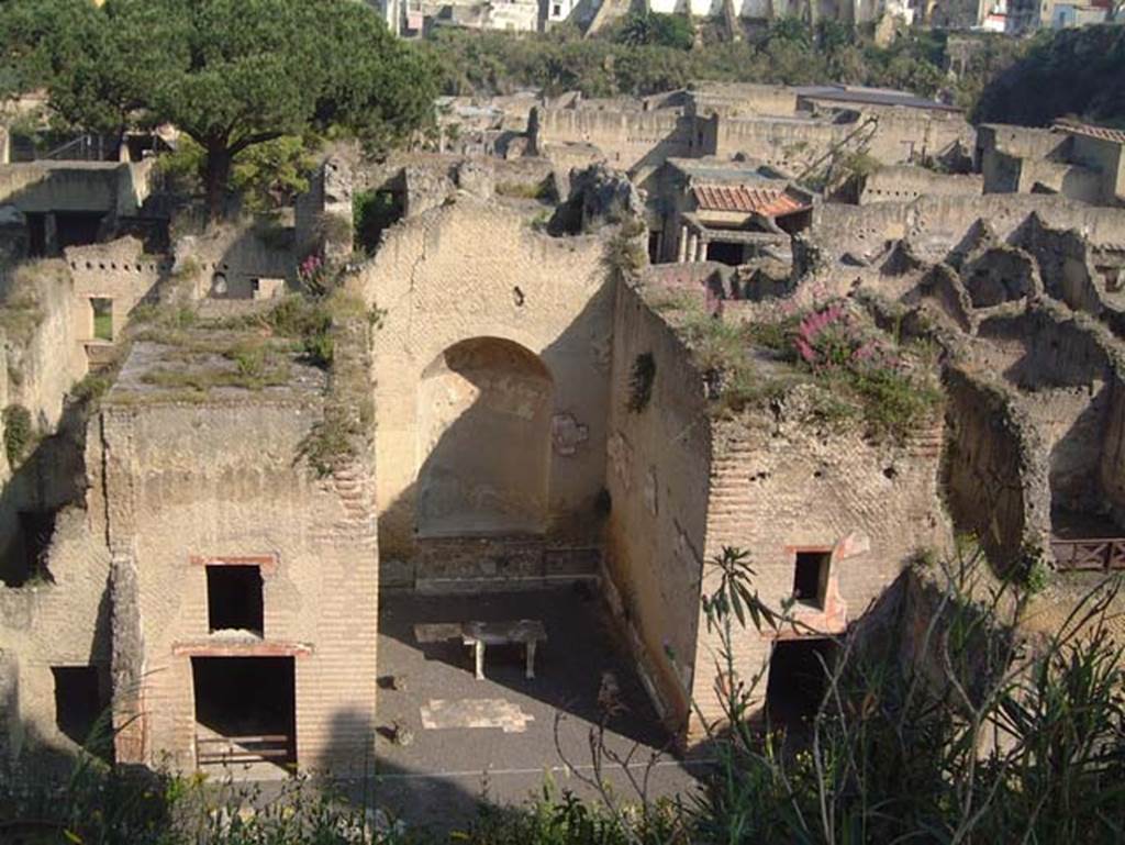
[[[192,657],[191,677],[200,766],[296,762],[292,657]]]

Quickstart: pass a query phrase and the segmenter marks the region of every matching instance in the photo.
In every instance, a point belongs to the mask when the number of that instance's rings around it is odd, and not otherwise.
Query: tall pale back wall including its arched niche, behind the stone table
[[[546,501],[538,512],[546,530],[532,536],[561,546],[597,540],[613,306],[604,250],[602,236],[550,237],[516,210],[461,196],[390,228],[375,259],[350,281],[386,312],[372,374],[384,583],[433,575],[425,568],[425,546],[439,540],[417,536],[423,497],[426,507],[438,507],[430,516],[451,509],[441,534],[456,532],[462,519],[474,534],[470,523],[486,512],[493,541],[505,527],[521,524],[513,516],[516,488],[504,469],[510,461],[503,442],[487,440],[472,458],[495,464],[484,475],[442,457],[444,442],[478,414],[511,414],[528,450],[521,455],[531,459],[532,448],[536,456],[543,450]],[[450,354],[467,341],[478,342],[474,360],[480,366],[451,368]],[[536,398],[542,392],[525,389],[530,383],[518,377],[523,371],[541,374],[537,385],[549,380],[546,430]],[[469,519],[471,509],[480,513]],[[487,559],[467,567],[464,577],[496,572]],[[449,567],[440,572],[454,574]]]

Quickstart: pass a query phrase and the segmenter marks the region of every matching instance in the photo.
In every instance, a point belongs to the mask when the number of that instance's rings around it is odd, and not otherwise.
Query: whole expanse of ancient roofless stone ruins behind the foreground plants
[[[1123,140],[884,100],[543,102],[506,156],[336,152],[289,223],[174,237],[147,164],[0,165],[3,761],[108,709],[118,762],[346,767],[386,596],[575,584],[690,745],[726,549],[800,622],[738,639],[758,713],[845,631],[925,660],[957,534],[1001,578],[1125,566]],[[422,621],[483,677],[567,648]]]

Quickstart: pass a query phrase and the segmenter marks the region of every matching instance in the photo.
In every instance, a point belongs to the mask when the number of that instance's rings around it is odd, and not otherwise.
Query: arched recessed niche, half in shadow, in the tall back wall
[[[547,521],[551,375],[518,343],[447,349],[418,386],[420,537],[540,533]]]

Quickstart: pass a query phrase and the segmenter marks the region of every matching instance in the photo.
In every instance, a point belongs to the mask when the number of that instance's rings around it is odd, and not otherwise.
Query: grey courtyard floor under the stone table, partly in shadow
[[[519,802],[539,793],[547,777],[590,795],[577,775],[593,771],[590,731],[609,687],[616,689],[620,711],[605,744],[622,757],[632,750],[631,774],[644,776],[651,754],[668,743],[591,592],[389,594],[380,604],[378,774],[366,789],[407,820],[457,827],[483,795]],[[547,629],[533,680],[524,677],[522,646],[489,646],[485,678],[477,680],[470,648],[442,639],[435,627],[516,619],[541,620]],[[394,740],[395,726],[412,735],[408,743]],[[702,765],[664,754],[650,771],[649,795],[692,789]],[[605,777],[620,794],[631,793],[620,766],[608,765]]]

